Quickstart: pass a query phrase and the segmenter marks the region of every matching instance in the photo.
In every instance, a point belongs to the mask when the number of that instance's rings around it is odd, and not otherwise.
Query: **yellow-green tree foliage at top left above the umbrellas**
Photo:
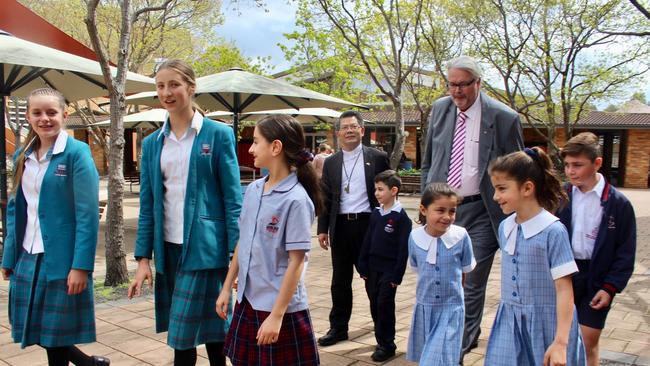
[[[86,6],[79,0],[20,0],[57,28],[91,47],[84,24]],[[156,6],[161,0],[133,0],[132,7]],[[212,29],[221,24],[220,0],[174,1],[166,11],[145,13],[133,25],[130,71],[152,74],[157,58],[191,59],[213,40]],[[100,38],[111,60],[117,60],[120,4],[103,1],[97,9]]]

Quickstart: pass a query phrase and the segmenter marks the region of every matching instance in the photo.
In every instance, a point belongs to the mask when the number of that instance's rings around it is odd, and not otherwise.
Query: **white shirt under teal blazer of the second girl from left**
[[[190,128],[180,138],[171,132],[169,118],[158,135],[158,138],[162,135],[165,139],[160,154],[160,170],[165,186],[163,230],[165,241],[170,243],[183,243],[183,212],[187,176],[190,170],[190,155],[194,139],[201,132],[201,127],[203,127],[203,116],[195,111]]]

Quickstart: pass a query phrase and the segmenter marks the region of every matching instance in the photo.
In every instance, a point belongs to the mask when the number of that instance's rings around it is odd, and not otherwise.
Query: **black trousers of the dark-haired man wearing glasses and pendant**
[[[336,219],[336,233],[331,240],[332,250],[332,310],[330,328],[347,331],[352,315],[352,276],[359,260],[363,237],[368,229],[366,214],[356,220],[343,215]]]

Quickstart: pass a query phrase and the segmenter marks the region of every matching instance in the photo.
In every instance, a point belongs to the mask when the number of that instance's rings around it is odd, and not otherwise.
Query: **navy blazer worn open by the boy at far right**
[[[566,189],[569,202],[566,207],[558,211],[557,216],[566,226],[571,237],[573,188],[567,185]],[[616,292],[621,292],[634,271],[636,254],[634,209],[630,201],[608,182],[605,182],[600,204],[603,206],[603,219],[591,255],[588,285],[592,289],[613,287]]]

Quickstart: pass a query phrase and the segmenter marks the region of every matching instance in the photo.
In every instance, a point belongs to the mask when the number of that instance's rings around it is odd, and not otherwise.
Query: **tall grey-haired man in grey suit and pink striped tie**
[[[463,354],[478,345],[485,288],[504,218],[492,199],[488,164],[523,148],[519,115],[481,92],[481,76],[471,57],[448,62],[449,96],[437,100],[431,109],[421,169],[423,188],[429,182],[447,182],[464,197],[456,224],[469,232],[477,266],[465,280]]]

